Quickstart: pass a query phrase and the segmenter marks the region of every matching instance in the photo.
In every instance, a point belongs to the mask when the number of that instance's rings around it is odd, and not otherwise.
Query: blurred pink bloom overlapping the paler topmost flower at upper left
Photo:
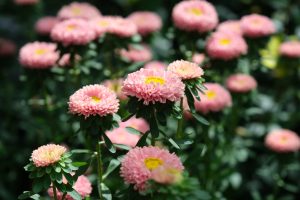
[[[96,38],[96,31],[85,20],[69,19],[53,27],[51,38],[64,45],[85,45]]]

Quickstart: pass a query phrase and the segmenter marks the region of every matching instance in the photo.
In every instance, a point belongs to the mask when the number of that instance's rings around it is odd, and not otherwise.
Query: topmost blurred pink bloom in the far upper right
[[[245,36],[252,38],[268,36],[276,32],[275,25],[271,19],[258,14],[242,17],[241,28]]]

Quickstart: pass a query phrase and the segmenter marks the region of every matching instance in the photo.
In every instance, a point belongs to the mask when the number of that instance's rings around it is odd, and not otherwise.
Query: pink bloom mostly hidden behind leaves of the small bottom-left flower
[[[67,180],[65,177],[63,177],[63,182],[67,183]],[[92,184],[89,181],[89,179],[84,176],[78,176],[78,179],[76,180],[75,184],[73,185],[73,189],[80,194],[81,198],[84,199],[85,197],[88,197],[92,193]],[[58,200],[61,200],[63,197],[63,193],[59,190],[56,191]],[[53,198],[53,189],[52,187],[48,189],[48,195]],[[73,198],[70,195],[66,195],[65,200],[73,200]]]

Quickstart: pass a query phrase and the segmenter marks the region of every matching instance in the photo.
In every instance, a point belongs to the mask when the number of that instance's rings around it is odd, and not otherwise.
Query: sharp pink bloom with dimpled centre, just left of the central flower
[[[72,114],[99,115],[114,114],[119,109],[116,94],[103,85],[87,85],[77,90],[69,99],[69,110]]]

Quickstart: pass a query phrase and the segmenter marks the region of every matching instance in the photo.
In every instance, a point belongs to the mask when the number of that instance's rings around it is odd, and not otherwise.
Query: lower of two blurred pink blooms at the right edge
[[[300,137],[288,129],[271,131],[265,139],[266,146],[276,152],[295,152],[300,149]]]

